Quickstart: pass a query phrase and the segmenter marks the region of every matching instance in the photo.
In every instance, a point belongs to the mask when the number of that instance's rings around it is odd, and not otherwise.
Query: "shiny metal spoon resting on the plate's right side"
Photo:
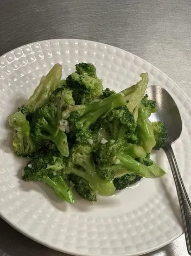
[[[172,175],[174,177],[178,201],[182,212],[183,225],[185,229],[185,239],[188,249],[188,253],[191,255],[191,202],[188,198],[188,194],[185,190],[184,183],[182,181],[178,164],[176,162],[175,155],[172,150],[172,143],[176,141],[182,132],[182,121],[178,111],[178,107],[171,95],[161,86],[152,85],[146,90],[150,99],[157,102],[158,111],[153,114],[154,120],[163,121],[169,131],[169,143],[164,147],[164,151],[167,155],[168,161],[171,166]]]

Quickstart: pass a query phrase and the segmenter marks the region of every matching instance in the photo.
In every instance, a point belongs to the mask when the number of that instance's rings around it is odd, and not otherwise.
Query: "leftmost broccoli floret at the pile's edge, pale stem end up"
[[[32,156],[36,150],[36,145],[32,140],[31,127],[25,115],[16,112],[8,117],[8,122],[13,128],[13,148],[19,156]]]

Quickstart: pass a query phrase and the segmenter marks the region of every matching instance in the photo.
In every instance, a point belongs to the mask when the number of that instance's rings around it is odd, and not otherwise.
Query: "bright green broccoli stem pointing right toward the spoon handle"
[[[152,166],[145,166],[134,160],[130,155],[118,154],[113,162],[127,170],[127,174],[140,175],[145,178],[153,178],[165,174],[164,170],[153,162]]]

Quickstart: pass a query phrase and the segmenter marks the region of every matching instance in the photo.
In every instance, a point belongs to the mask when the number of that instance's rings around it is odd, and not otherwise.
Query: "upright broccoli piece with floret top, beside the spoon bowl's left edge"
[[[146,95],[141,103],[138,110],[137,118],[137,134],[141,141],[141,146],[145,149],[147,153],[151,153],[151,150],[156,144],[153,126],[149,117],[151,113],[156,112],[156,102],[148,100],[148,95]]]

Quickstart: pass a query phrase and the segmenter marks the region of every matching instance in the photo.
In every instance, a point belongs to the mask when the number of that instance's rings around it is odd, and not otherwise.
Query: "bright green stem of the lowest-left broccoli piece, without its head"
[[[58,175],[52,179],[49,178],[48,176],[44,176],[43,182],[45,182],[49,187],[51,187],[51,189],[53,189],[56,193],[57,197],[59,197],[61,200],[70,203],[76,203],[72,190],[64,180],[63,176]]]

